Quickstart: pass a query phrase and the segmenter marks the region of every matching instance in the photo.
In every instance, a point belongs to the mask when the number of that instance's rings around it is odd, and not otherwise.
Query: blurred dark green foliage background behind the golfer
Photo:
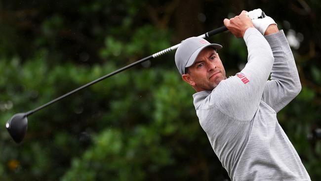
[[[278,119],[311,179],[320,180],[319,0],[0,0],[0,180],[229,180],[174,52],[29,116],[20,144],[4,125],[15,113],[255,8],[274,18],[291,45],[302,90]],[[225,32],[208,40],[223,45],[227,76],[240,71],[242,39]]]

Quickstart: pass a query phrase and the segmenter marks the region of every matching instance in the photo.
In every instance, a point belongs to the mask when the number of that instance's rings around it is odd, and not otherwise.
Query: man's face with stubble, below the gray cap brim
[[[226,79],[226,75],[218,53],[213,47],[206,47],[189,67],[189,73],[183,74],[182,78],[196,91],[203,91],[213,90]]]

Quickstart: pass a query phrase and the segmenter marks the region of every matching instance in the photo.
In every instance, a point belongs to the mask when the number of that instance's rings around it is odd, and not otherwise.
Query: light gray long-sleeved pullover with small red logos
[[[310,181],[276,116],[301,90],[284,33],[249,28],[243,38],[244,69],[193,95],[201,127],[233,181]]]

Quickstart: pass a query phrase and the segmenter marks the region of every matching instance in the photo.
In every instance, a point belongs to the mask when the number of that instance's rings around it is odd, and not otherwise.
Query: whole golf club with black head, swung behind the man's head
[[[265,13],[262,11],[262,15],[259,18],[264,18],[264,17],[265,17]],[[217,28],[217,29],[209,31],[209,32],[207,32],[205,34],[202,34],[202,35],[200,35],[198,37],[208,38],[210,36],[213,36],[213,35],[219,34],[221,32],[224,32],[226,30],[228,30],[228,29],[225,26],[222,26],[220,28]],[[71,95],[71,94],[73,94],[73,93],[75,93],[75,92],[77,92],[79,90],[87,88],[87,87],[89,87],[89,86],[91,86],[93,84],[96,84],[96,83],[98,83],[98,82],[100,82],[100,81],[102,81],[102,80],[104,80],[104,79],[106,79],[108,77],[111,77],[111,76],[113,76],[115,74],[118,74],[118,73],[120,73],[120,72],[122,72],[122,71],[124,71],[124,70],[126,70],[126,69],[128,69],[130,67],[133,67],[133,66],[135,66],[135,65],[137,65],[139,63],[142,63],[144,61],[156,58],[156,57],[161,56],[161,55],[163,55],[165,53],[168,53],[168,52],[170,52],[172,50],[175,50],[175,49],[177,49],[179,47],[179,45],[180,44],[177,44],[177,45],[171,46],[169,48],[163,49],[163,50],[161,50],[161,51],[159,51],[157,53],[154,53],[153,55],[150,55],[150,56],[145,57],[143,59],[140,59],[140,60],[138,60],[136,62],[133,62],[133,63],[131,63],[129,65],[126,65],[126,66],[124,66],[124,67],[122,67],[122,68],[120,68],[120,69],[118,69],[118,70],[116,70],[116,71],[114,71],[114,72],[112,72],[110,74],[107,74],[107,75],[105,75],[103,77],[100,77],[100,78],[98,78],[98,79],[96,79],[96,80],[94,80],[94,81],[92,81],[92,82],[90,82],[88,84],[85,84],[85,85],[81,86],[80,88],[72,90],[72,91],[70,91],[70,92],[68,92],[68,93],[66,93],[66,94],[64,94],[64,95],[62,95],[62,96],[60,96],[60,97],[58,97],[56,99],[53,99],[50,102],[48,102],[46,104],[43,104],[43,105],[41,105],[40,107],[38,107],[36,109],[33,109],[33,110],[25,112],[25,113],[17,113],[17,114],[13,115],[10,118],[10,120],[6,123],[5,127],[6,127],[7,131],[9,132],[10,136],[13,138],[13,140],[16,143],[20,143],[23,140],[23,138],[25,137],[26,133],[27,133],[27,128],[28,128],[27,117],[29,115],[39,111],[40,109],[43,109],[43,108],[47,107],[47,106],[49,106],[49,105],[51,105],[51,104],[53,104],[53,103],[65,98],[65,97],[67,97],[67,96],[69,96],[69,95]]]

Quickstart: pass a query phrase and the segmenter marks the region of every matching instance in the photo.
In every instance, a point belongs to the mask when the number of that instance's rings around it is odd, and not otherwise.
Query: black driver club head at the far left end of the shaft
[[[26,113],[17,113],[13,115],[5,124],[10,136],[16,143],[20,143],[25,137],[28,128],[28,120]]]

